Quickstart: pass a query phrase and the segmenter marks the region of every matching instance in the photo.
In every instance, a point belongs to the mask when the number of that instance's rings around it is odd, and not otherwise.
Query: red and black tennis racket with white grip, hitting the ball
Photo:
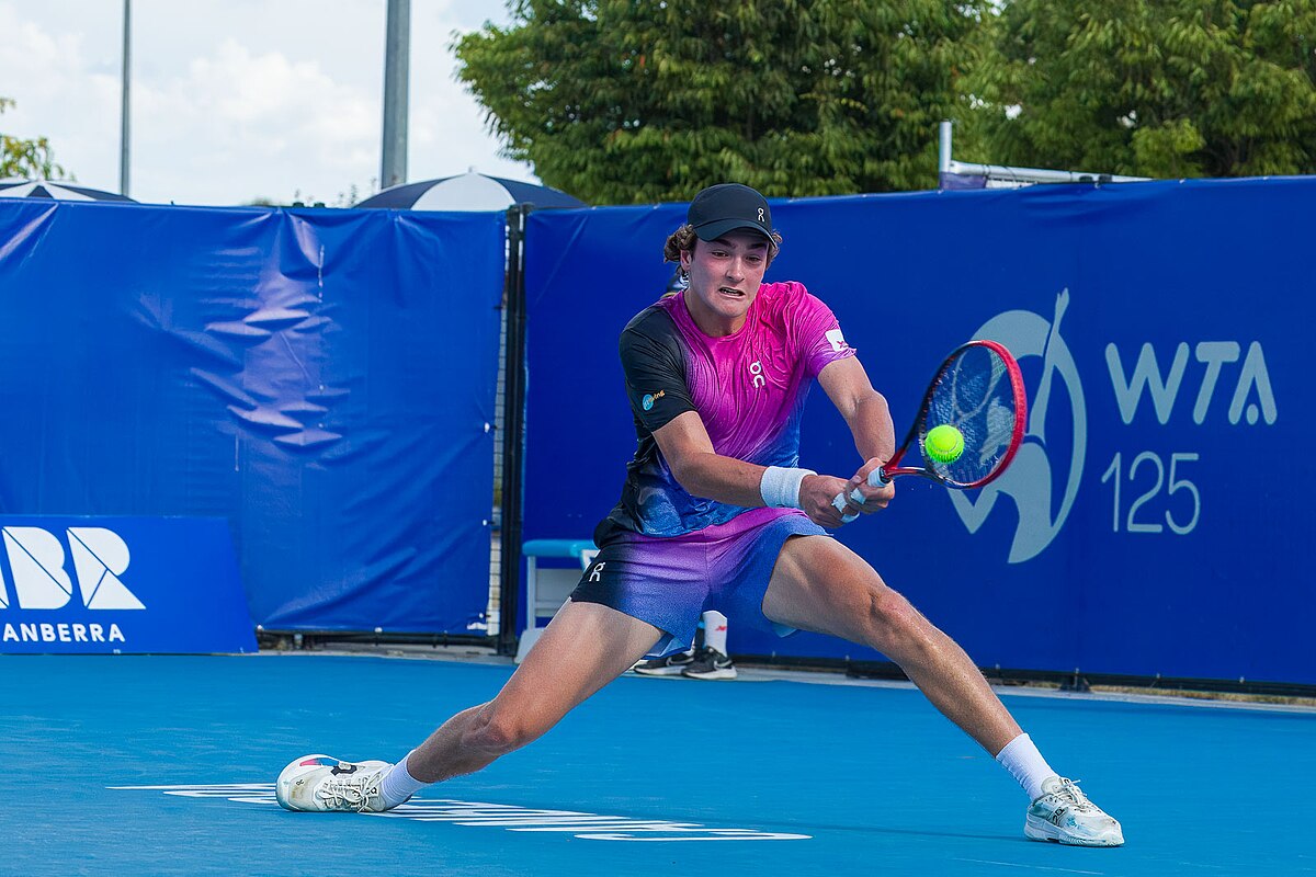
[[[869,485],[882,486],[898,475],[921,475],[950,488],[980,488],[1015,459],[1026,421],[1028,397],[1019,363],[994,341],[971,341],[941,363],[904,444],[869,475]],[[916,440],[924,464],[901,465]],[[858,489],[850,498],[863,502]],[[845,513],[845,494],[836,494],[832,505]],[[857,517],[844,514],[841,519],[849,523]]]

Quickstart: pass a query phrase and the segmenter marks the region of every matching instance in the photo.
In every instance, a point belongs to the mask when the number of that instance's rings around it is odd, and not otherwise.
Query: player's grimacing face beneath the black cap
[[[728,231],[716,241],[695,241],[680,254],[690,272],[686,306],[709,335],[729,335],[745,325],[767,271],[767,238],[753,231]]]

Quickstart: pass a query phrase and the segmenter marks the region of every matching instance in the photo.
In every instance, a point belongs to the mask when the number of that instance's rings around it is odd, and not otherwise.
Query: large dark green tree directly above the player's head
[[[504,154],[595,204],[936,185],[979,0],[513,0],[454,41]]]

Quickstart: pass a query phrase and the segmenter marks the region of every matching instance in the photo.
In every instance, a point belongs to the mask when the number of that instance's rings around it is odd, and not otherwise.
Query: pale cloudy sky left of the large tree
[[[47,137],[82,185],[118,191],[124,0],[0,0],[0,133]],[[155,204],[295,199],[346,206],[378,189],[386,0],[132,0],[129,195]],[[455,78],[453,32],[507,24],[503,0],[411,0],[407,179],[500,158]]]

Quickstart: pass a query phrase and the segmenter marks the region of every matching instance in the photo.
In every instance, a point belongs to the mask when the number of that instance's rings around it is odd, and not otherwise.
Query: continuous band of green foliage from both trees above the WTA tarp
[[[459,37],[509,158],[594,202],[936,184],[957,158],[1316,172],[1316,0],[512,0]]]

